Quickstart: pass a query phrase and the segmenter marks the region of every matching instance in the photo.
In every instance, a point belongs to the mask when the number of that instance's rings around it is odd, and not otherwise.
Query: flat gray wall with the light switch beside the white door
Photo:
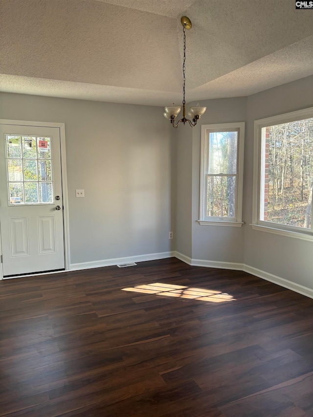
[[[71,263],[174,249],[173,128],[159,107],[0,93],[0,118],[65,123]]]

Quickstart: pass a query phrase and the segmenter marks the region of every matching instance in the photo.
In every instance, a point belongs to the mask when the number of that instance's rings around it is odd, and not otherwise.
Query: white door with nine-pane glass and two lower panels
[[[60,129],[0,124],[3,277],[65,269]]]

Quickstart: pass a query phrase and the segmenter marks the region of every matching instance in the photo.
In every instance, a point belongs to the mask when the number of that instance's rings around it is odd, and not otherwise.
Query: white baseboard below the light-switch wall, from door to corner
[[[157,259],[173,258],[174,252],[148,253],[145,255],[127,256],[125,258],[102,259],[99,261],[71,263],[70,270],[77,271],[79,269],[100,268],[102,266],[112,266],[118,263],[155,261]]]

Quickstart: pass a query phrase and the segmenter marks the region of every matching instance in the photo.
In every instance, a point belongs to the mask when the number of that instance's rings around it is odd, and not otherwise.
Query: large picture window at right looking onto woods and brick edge
[[[256,120],[254,128],[252,226],[311,240],[313,108]]]

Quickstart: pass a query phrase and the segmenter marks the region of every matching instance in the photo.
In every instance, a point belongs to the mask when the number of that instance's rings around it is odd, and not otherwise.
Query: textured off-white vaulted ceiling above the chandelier
[[[249,95],[313,74],[313,11],[286,0],[0,0],[0,90],[120,103]]]

